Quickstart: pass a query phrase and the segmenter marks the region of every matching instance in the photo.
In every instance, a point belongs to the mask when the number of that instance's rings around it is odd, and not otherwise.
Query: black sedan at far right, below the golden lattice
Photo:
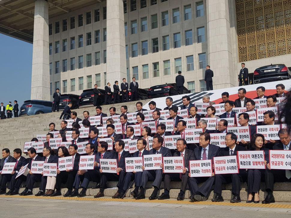
[[[253,72],[254,84],[280,81],[291,78],[291,72],[285,64],[271,64],[257,68]]]

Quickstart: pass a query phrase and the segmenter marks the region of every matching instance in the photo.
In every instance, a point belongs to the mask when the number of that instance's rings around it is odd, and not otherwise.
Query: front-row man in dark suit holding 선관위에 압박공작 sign
[[[212,160],[218,156],[219,151],[219,146],[210,144],[210,134],[202,132],[199,136],[199,147],[194,149],[194,160]],[[214,173],[210,177],[190,177],[190,173],[187,176],[191,191],[189,198],[192,201],[206,201],[214,183]],[[203,185],[198,187],[198,183],[201,182],[204,182]]]

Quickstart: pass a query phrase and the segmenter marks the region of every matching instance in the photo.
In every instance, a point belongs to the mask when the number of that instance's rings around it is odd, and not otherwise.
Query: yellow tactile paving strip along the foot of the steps
[[[230,202],[211,202],[211,201],[203,201],[203,202],[190,202],[187,199],[184,201],[176,201],[176,200],[149,200],[149,199],[140,199],[135,200],[133,198],[125,198],[125,199],[113,199],[113,198],[69,198],[69,197],[43,197],[43,196],[6,196],[0,195],[0,198],[27,198],[27,199],[56,199],[56,200],[78,200],[78,201],[105,201],[105,202],[140,202],[140,203],[162,203],[162,204],[180,204],[180,205],[221,205],[221,206],[235,206],[235,207],[259,207],[259,208],[287,208],[291,209],[291,204],[280,204],[280,203],[271,203],[271,204],[254,204],[254,203],[230,203]]]

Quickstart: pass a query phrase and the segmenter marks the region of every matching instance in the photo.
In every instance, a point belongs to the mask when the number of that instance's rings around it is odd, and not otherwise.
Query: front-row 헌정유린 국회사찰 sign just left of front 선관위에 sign
[[[164,173],[182,173],[184,169],[183,157],[163,157]]]

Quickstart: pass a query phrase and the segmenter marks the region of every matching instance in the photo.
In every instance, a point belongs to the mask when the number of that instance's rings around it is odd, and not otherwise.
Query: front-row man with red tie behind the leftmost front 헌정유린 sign
[[[117,166],[118,168],[116,169],[116,174],[115,173],[102,173],[102,169],[100,169],[100,173],[101,173],[101,188],[99,190],[99,193],[94,196],[96,198],[98,197],[101,197],[101,196],[104,196],[104,190],[106,189],[106,183],[108,180],[112,180],[112,181],[118,181],[117,183],[117,187],[118,187],[118,190],[117,192],[112,196],[112,198],[119,198],[119,196],[123,196],[124,193],[122,193],[122,187],[123,187],[123,181],[124,181],[124,178],[125,178],[125,158],[129,158],[131,157],[130,153],[129,152],[126,152],[124,150],[124,146],[125,146],[125,143],[124,141],[122,140],[117,140],[116,143],[115,143],[115,150],[116,150],[116,153],[114,155],[114,159],[117,160]]]

